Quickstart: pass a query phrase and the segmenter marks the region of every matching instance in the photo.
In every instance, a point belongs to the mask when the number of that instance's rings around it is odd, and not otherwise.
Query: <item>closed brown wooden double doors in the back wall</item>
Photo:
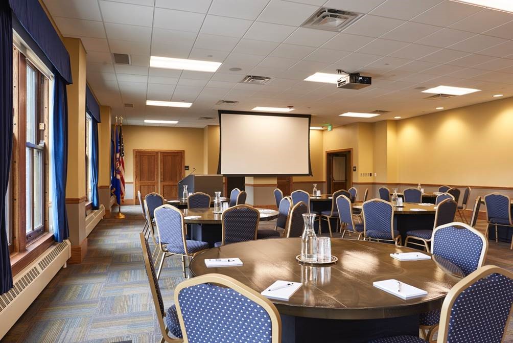
[[[166,199],[178,197],[178,182],[185,173],[183,150],[134,150],[135,194],[159,193]],[[135,195],[135,203],[139,199]]]

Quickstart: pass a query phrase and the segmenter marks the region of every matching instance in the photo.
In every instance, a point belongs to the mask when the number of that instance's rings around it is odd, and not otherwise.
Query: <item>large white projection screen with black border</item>
[[[311,175],[310,115],[219,111],[218,173]]]

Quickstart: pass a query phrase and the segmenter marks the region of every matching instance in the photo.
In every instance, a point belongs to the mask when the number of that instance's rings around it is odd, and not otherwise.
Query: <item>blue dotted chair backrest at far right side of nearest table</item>
[[[475,228],[459,222],[436,227],[431,236],[431,254],[449,260],[468,275],[483,265],[488,240]]]

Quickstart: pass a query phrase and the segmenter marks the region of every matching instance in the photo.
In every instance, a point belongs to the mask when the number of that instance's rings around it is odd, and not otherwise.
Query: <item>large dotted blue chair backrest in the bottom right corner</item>
[[[478,269],[447,293],[437,342],[505,341],[512,304],[513,273],[495,265]]]

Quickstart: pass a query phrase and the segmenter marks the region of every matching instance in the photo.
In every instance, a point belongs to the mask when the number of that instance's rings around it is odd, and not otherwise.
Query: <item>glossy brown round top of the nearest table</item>
[[[277,238],[227,244],[196,255],[193,276],[220,273],[262,292],[276,280],[302,282],[289,301],[271,300],[281,314],[330,319],[377,319],[427,312],[442,306],[462,272],[445,259],[398,261],[391,253],[418,252],[393,244],[332,238],[331,253],[339,258],[329,266],[310,266],[295,259],[301,238]],[[244,265],[206,268],[206,258],[239,257]],[[397,279],[428,292],[402,300],[373,287],[373,281]]]

